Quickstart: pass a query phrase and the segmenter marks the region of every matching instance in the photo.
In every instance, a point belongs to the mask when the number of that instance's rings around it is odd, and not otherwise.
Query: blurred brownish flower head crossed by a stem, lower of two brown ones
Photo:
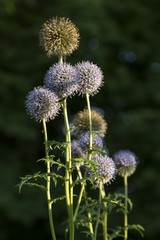
[[[98,132],[100,137],[104,137],[107,131],[107,123],[100,113],[91,110],[92,130]],[[76,114],[73,125],[77,135],[89,131],[88,109],[84,109]]]

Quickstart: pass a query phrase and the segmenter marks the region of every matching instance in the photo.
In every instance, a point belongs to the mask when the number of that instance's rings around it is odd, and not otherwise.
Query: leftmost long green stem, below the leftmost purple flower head
[[[43,129],[44,129],[44,140],[45,140],[45,153],[46,158],[49,160],[49,154],[48,154],[48,147],[47,147],[47,127],[46,127],[46,121],[43,119]],[[52,234],[52,239],[56,240],[55,230],[54,230],[54,224],[53,224],[53,217],[52,217],[52,202],[51,202],[51,194],[50,194],[50,186],[51,186],[51,177],[50,174],[50,162],[47,161],[47,200],[48,200],[48,214],[49,214],[49,223],[50,223],[50,229]]]

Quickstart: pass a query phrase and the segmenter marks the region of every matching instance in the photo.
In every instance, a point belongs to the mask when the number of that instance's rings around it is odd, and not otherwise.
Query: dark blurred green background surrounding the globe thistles
[[[15,186],[20,176],[45,170],[36,163],[44,156],[42,126],[26,114],[24,101],[57,61],[39,47],[41,25],[53,16],[70,18],[80,31],[80,46],[67,61],[90,60],[104,72],[104,86],[91,102],[108,121],[106,146],[110,156],[129,149],[139,161],[129,179],[134,204],[129,221],[144,226],[144,239],[160,239],[159,12],[159,0],[0,1],[1,240],[51,239],[45,194],[25,187],[19,195]],[[81,97],[68,101],[70,121],[85,105]],[[48,127],[51,139],[64,140],[62,113]],[[122,179],[108,191],[122,192]],[[53,192],[58,196],[62,189]],[[57,240],[64,239],[64,206],[54,207]],[[122,214],[109,221],[109,226],[122,224]],[[131,239],[141,237],[133,231]]]

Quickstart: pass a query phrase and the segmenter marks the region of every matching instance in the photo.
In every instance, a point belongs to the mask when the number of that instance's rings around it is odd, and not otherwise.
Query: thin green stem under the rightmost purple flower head
[[[125,192],[125,214],[124,214],[124,240],[128,239],[128,186],[127,186],[127,176],[124,176],[124,192]]]

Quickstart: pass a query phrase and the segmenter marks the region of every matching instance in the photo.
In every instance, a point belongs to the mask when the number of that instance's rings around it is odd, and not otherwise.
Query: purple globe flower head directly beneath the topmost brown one
[[[67,98],[76,93],[76,69],[69,63],[56,63],[46,73],[44,84],[59,98]]]

